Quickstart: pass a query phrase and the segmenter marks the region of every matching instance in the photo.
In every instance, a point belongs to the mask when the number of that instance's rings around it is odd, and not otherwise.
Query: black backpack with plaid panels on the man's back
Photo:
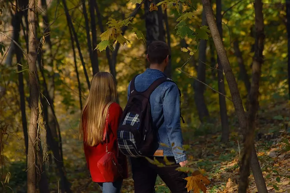
[[[173,82],[167,77],[161,77],[155,80],[147,90],[137,92],[135,89],[137,76],[131,81],[129,99],[117,130],[119,150],[129,157],[150,156],[157,150],[157,129],[151,116],[150,95],[161,83]],[[180,96],[179,90],[179,99]],[[180,117],[182,118],[181,112]],[[183,118],[182,122],[184,123]]]

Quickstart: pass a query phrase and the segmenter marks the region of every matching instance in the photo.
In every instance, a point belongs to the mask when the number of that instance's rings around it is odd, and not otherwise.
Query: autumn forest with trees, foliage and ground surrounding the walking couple
[[[111,72],[124,108],[155,40],[207,191],[290,189],[290,1],[2,0],[0,13],[1,192],[99,192],[78,139],[90,80]]]

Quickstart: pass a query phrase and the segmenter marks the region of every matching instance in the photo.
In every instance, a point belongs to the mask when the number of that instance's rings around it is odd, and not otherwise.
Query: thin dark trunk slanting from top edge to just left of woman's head
[[[74,36],[74,40],[76,41],[76,47],[78,48],[78,51],[79,51],[79,57],[80,57],[81,62],[82,62],[82,67],[84,68],[85,80],[87,81],[88,87],[90,89],[91,85],[90,85],[89,76],[88,76],[88,73],[87,73],[87,70],[86,70],[86,67],[85,67],[84,58],[82,56],[81,47],[79,45],[79,39],[78,39],[78,36],[76,34],[76,30],[75,30],[75,28],[73,26],[72,19],[70,18],[69,11],[68,11],[68,8],[67,8],[67,5],[66,5],[66,0],[62,0],[62,2],[63,2],[64,11],[66,13],[67,24],[70,25],[70,27],[72,29],[72,34]]]

